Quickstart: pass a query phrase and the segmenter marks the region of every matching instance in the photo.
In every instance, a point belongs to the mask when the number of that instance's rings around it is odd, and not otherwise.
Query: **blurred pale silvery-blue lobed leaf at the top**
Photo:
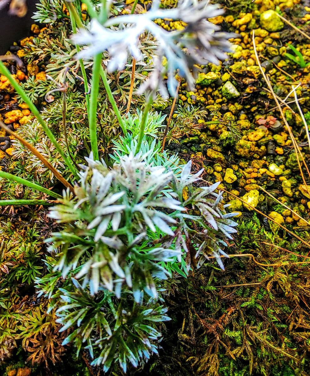
[[[113,72],[125,68],[128,55],[143,61],[139,39],[143,33],[150,33],[157,43],[154,70],[141,85],[140,92],[160,90],[161,95],[167,97],[166,76],[168,91],[173,96],[177,84],[176,73],[193,86],[193,64],[218,64],[219,60],[226,58],[226,52],[230,50],[228,39],[232,35],[221,32],[219,26],[207,20],[221,14],[223,10],[218,5],[209,4],[209,0],[180,0],[172,9],[160,9],[159,2],[155,1],[150,10],[143,14],[110,17],[104,24],[93,19],[88,30],[80,30],[72,38],[75,43],[87,46],[78,53],[77,58],[91,59],[107,51],[107,69]],[[182,21],[186,26],[183,30],[167,31],[154,22],[157,19]]]

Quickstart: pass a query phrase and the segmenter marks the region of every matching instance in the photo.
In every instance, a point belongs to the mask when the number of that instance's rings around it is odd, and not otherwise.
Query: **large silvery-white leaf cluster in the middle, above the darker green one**
[[[57,252],[54,270],[65,278],[78,269],[75,278],[91,295],[104,288],[119,298],[129,289],[136,302],[144,293],[157,299],[157,281],[169,275],[160,262],[182,257],[188,269],[209,256],[223,267],[225,240],[237,223],[214,192],[217,184],[199,187],[202,171],[192,174],[191,162],[176,174],[148,164],[147,154],[119,156],[113,168],[90,156],[76,197],[65,194],[62,204],[51,208],[50,217],[65,224],[48,240]],[[161,234],[155,243],[150,232]]]

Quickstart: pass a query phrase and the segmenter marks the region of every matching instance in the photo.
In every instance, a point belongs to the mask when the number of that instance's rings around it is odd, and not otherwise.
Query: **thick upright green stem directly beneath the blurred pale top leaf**
[[[90,146],[93,152],[93,158],[98,161],[98,144],[97,144],[97,107],[98,107],[98,93],[99,93],[99,76],[101,67],[102,53],[98,53],[93,62],[92,69],[92,88],[90,91],[90,102],[89,102],[89,136],[90,136]]]

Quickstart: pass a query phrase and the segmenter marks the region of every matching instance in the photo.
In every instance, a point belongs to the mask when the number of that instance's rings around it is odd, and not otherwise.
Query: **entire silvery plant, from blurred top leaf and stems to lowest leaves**
[[[72,3],[66,4],[73,15]],[[37,280],[37,287],[50,299],[50,309],[57,310],[60,331],[68,331],[63,344],[74,342],[78,353],[86,347],[92,365],[104,371],[116,361],[126,371],[128,363],[137,367],[157,353],[158,325],[170,320],[163,306],[169,288],[165,280],[173,273],[186,277],[210,257],[223,268],[227,239],[236,232],[237,223],[230,219],[235,213],[226,213],[221,193],[215,192],[219,183],[206,186],[203,170],[193,174],[191,161],[184,165],[161,150],[157,134],[164,116],[150,113],[158,91],[175,95],[176,74],[193,87],[194,64],[225,59],[231,35],[207,20],[223,11],[206,0],[180,0],[173,9],[160,9],[160,2],[153,1],[143,14],[115,16],[110,9],[111,2],[104,0],[89,8],[93,19],[87,27],[80,21],[73,36],[76,44],[87,46],[76,58],[93,60],[88,110],[92,153],[87,166],[81,166],[74,193],[65,192],[50,209],[60,230],[47,240],[49,273]],[[154,22],[158,18],[186,26],[167,32]],[[146,106],[124,120],[103,56],[108,71],[122,70],[128,55],[143,60],[143,33],[157,43],[153,71],[139,89],[148,94]],[[113,141],[109,165],[99,161],[99,76],[123,131]],[[86,74],[84,79],[86,83]]]

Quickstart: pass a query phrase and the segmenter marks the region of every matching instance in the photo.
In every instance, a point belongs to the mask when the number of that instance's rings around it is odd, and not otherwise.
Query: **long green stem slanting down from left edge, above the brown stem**
[[[77,171],[75,170],[73,164],[71,163],[70,159],[65,155],[62,148],[60,147],[59,143],[56,141],[55,136],[51,132],[50,128],[47,126],[45,121],[43,120],[40,112],[36,108],[36,106],[31,102],[31,100],[28,98],[26,92],[21,88],[20,85],[15,81],[15,79],[12,77],[11,73],[8,71],[8,69],[5,67],[2,61],[0,61],[0,73],[6,76],[11,83],[11,85],[14,87],[17,94],[21,96],[23,101],[29,106],[30,111],[35,115],[35,117],[38,119],[39,123],[41,124],[42,128],[44,129],[45,133],[47,134],[48,138],[51,140],[53,145],[55,146],[57,152],[62,156],[63,160],[66,162],[66,165],[69,167],[70,171],[74,175],[75,179],[79,179],[77,175]]]

